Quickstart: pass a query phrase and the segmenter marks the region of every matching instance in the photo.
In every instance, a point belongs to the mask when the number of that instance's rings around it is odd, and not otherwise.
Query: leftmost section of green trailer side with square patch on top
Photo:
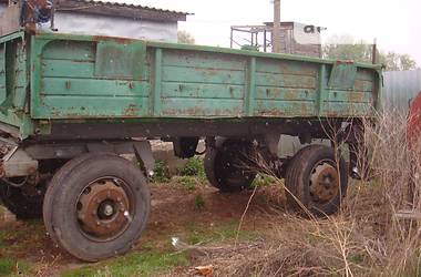
[[[143,43],[32,38],[32,117],[147,115],[151,88]]]

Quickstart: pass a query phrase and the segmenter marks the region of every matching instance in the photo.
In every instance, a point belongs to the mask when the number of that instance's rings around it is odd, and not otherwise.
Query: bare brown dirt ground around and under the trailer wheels
[[[285,212],[285,198],[279,186],[263,187],[255,194],[254,191],[220,194],[209,185],[198,185],[192,189],[176,184],[153,184],[151,192],[152,213],[148,226],[130,254],[142,253],[151,248],[175,252],[171,245],[172,237],[193,239],[194,243],[205,244],[215,240],[220,243],[225,239],[224,236],[227,236],[224,243],[232,244],[234,240],[238,240],[238,237],[242,238],[243,234],[254,234],[248,239],[249,242],[256,240],[259,234],[267,228],[265,214]],[[254,196],[253,202],[242,220],[251,195]],[[242,229],[237,234],[240,222]],[[69,269],[92,266],[92,264],[82,263],[57,248],[45,234],[40,220],[2,220],[0,222],[0,232],[3,234],[0,240],[2,244],[0,244],[0,258],[13,258],[30,265],[23,275],[60,276]],[[198,261],[194,257],[189,257],[188,265],[171,270],[175,270],[177,275],[192,276],[194,275],[192,267],[201,265],[196,263],[205,261],[206,258],[201,258]],[[210,259],[209,263],[212,263]],[[20,268],[17,264],[14,274],[17,275],[19,271]],[[168,276],[168,270],[158,275]],[[170,273],[170,275],[173,274]],[[76,274],[76,276],[84,275]]]

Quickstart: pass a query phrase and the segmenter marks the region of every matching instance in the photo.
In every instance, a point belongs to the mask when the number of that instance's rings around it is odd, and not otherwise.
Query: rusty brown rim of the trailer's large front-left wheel
[[[133,214],[129,185],[117,177],[102,177],[84,187],[76,202],[79,227],[94,242],[113,240],[123,234]]]

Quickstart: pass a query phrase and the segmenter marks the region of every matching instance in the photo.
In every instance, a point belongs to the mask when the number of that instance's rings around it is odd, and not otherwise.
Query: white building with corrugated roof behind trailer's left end
[[[9,0],[0,0],[0,13]],[[156,41],[177,41],[178,21],[187,13],[140,4],[91,0],[55,0],[58,32],[111,35]]]

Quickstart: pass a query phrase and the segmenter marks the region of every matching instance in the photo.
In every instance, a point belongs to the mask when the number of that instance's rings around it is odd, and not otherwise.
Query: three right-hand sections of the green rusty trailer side
[[[353,63],[160,52],[152,73],[160,82],[154,116],[358,117],[370,115],[376,106],[377,71]]]

